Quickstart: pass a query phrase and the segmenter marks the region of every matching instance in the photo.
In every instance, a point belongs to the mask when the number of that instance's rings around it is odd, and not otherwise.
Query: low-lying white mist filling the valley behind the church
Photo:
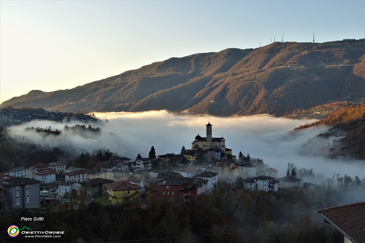
[[[333,173],[348,174],[351,177],[365,177],[365,161],[349,158],[330,159],[327,157],[328,144],[338,137],[316,138],[326,127],[310,127],[299,131],[293,128],[314,120],[292,120],[269,115],[242,117],[212,117],[174,115],[166,111],[149,112],[110,112],[96,113],[105,120],[101,132],[83,136],[65,132],[64,126],[82,124],[79,121],[57,123],[46,120],[34,120],[19,126],[12,126],[12,135],[24,135],[34,143],[49,144],[65,149],[72,154],[89,152],[98,148],[109,148],[120,156],[135,159],[137,154],[147,157],[151,146],[156,155],[175,153],[181,147],[191,148],[191,142],[199,134],[205,137],[205,125],[213,125],[213,137],[223,136],[226,147],[238,156],[239,151],[250,154],[251,158],[261,158],[269,167],[278,170],[278,177],[285,175],[288,162],[297,169],[314,168],[315,174],[322,173],[332,177]],[[88,126],[89,123],[85,124]],[[25,131],[26,127],[49,127],[62,130],[61,135],[46,135],[34,131]]]

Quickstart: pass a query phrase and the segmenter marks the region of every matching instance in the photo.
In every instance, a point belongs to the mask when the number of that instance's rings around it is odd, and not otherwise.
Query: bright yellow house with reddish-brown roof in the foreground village
[[[139,197],[139,189],[142,187],[127,180],[117,181],[107,185],[109,199],[112,204],[122,204],[123,202],[133,202]]]

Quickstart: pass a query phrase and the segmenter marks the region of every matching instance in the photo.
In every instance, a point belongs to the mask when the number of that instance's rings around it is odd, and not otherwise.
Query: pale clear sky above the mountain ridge
[[[171,57],[364,38],[365,1],[0,1],[0,102]]]

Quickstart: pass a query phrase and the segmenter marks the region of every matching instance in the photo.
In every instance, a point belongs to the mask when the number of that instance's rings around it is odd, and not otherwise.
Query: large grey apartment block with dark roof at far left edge
[[[40,181],[27,177],[14,177],[0,182],[3,189],[3,209],[39,208],[41,206]]]

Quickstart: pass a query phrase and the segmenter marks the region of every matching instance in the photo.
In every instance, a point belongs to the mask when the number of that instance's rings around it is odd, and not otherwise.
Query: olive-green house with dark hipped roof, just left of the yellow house
[[[85,193],[85,196],[97,198],[108,195],[108,184],[114,181],[103,178],[94,178],[87,181],[80,182],[81,192]]]

